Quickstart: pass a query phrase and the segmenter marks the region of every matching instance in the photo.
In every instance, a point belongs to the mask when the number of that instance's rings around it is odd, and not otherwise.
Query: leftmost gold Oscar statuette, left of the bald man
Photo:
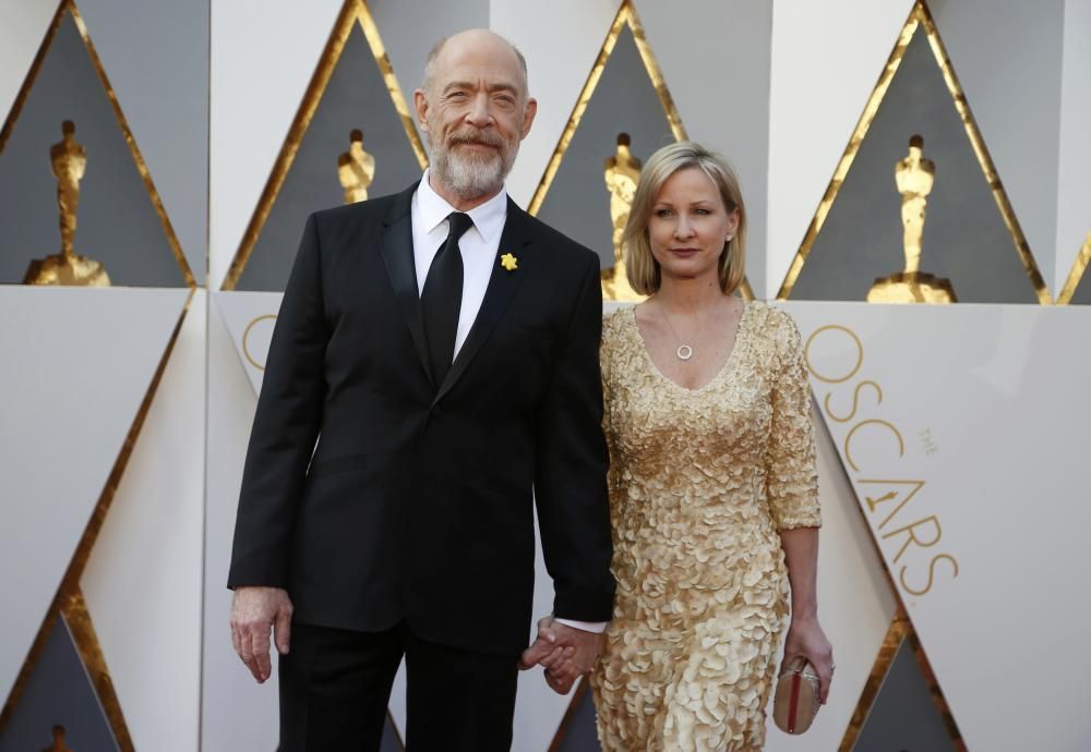
[[[80,181],[87,169],[87,151],[75,140],[75,123],[61,124],[64,137],[49,148],[53,177],[57,178],[57,206],[60,211],[61,252],[31,262],[24,284],[69,284],[106,288],[110,278],[98,262],[75,252],[75,218],[80,206]]]

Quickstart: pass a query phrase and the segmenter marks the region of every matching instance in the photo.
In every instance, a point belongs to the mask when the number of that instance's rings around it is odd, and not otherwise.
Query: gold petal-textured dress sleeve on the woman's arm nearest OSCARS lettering
[[[818,527],[818,472],[811,420],[811,386],[795,322],[776,312],[772,423],[766,451],[766,492],[778,531]],[[777,320],[779,319],[779,320]]]

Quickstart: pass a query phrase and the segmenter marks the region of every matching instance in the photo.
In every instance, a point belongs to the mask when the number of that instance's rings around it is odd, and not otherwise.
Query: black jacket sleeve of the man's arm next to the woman
[[[542,553],[555,593],[553,615],[573,621],[609,621],[613,609],[601,332],[602,290],[598,259],[591,256],[538,414],[535,468]]]

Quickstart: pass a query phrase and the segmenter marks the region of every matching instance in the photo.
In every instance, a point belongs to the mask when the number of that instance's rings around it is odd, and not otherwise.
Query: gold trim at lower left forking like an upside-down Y
[[[64,2],[68,1],[64,0]],[[92,683],[95,686],[98,701],[103,705],[103,712],[110,724],[110,730],[113,732],[119,749],[121,752],[135,752],[129,735],[129,727],[124,721],[124,714],[121,711],[121,704],[113,692],[113,682],[110,680],[109,670],[91,621],[91,615],[87,612],[86,603],[83,599],[80,580],[87,567],[87,561],[91,559],[91,553],[95,547],[95,542],[98,539],[98,534],[103,530],[103,524],[106,522],[106,514],[113,504],[113,497],[117,496],[118,486],[121,484],[121,477],[124,475],[125,468],[129,465],[129,460],[136,447],[136,439],[144,427],[144,421],[152,409],[152,402],[155,399],[156,391],[159,389],[159,381],[163,380],[163,374],[167,369],[170,355],[175,350],[175,343],[178,341],[179,333],[181,333],[185,315],[193,303],[194,292],[195,290],[191,289],[189,296],[185,299],[185,305],[182,306],[178,323],[175,324],[170,339],[167,340],[167,345],[159,359],[159,364],[156,366],[155,374],[152,376],[152,380],[144,392],[144,399],[141,401],[140,408],[136,410],[136,415],[129,426],[124,441],[121,444],[121,451],[118,452],[118,457],[113,461],[113,468],[106,478],[103,493],[98,497],[86,527],[84,527],[80,543],[76,544],[68,570],[64,572],[64,577],[61,578],[60,585],[57,587],[57,595],[53,596],[53,601],[46,611],[41,627],[38,628],[38,634],[31,644],[26,659],[23,662],[23,667],[20,669],[15,682],[12,684],[11,692],[4,701],[3,709],[0,711],[0,737],[3,736],[3,731],[15,712],[19,701],[26,690],[31,674],[33,674],[34,667],[41,657],[41,652],[45,650],[50,630],[57,622],[58,615],[63,615],[69,629],[72,631],[73,642],[80,653],[84,667],[87,669],[92,678]]]

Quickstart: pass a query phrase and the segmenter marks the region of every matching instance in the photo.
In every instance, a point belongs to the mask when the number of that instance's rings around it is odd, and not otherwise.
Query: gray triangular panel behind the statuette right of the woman
[[[913,134],[924,137],[924,157],[936,166],[921,271],[949,279],[960,302],[1036,303],[923,26],[906,48],[792,300],[863,301],[876,278],[902,271],[901,194],[894,170]]]

